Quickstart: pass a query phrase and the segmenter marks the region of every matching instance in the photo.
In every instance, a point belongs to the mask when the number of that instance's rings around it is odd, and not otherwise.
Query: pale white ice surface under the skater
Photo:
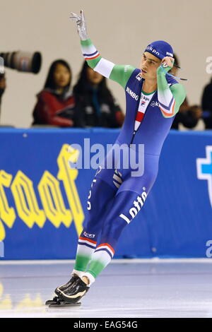
[[[212,317],[212,259],[114,260],[81,307],[45,307],[72,268],[73,261],[1,261],[0,317]]]

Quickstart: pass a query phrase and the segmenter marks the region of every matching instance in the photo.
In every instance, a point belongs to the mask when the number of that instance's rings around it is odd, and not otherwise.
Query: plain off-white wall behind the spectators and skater
[[[212,57],[211,0],[1,0],[0,52],[21,49],[40,51],[43,56],[38,75],[6,69],[1,124],[30,126],[35,95],[55,59],[69,61],[76,82],[83,57],[76,25],[68,18],[81,8],[90,39],[102,57],[116,64],[139,66],[149,42],[170,42],[184,69],[181,76],[189,78],[184,83],[189,102],[200,102],[202,88],[211,78],[206,73],[206,58]],[[123,89],[114,82],[109,86],[124,107]]]

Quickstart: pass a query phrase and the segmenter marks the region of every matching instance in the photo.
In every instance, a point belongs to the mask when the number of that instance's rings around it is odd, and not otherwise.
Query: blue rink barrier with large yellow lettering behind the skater
[[[1,260],[75,258],[95,170],[89,165],[71,170],[70,160],[79,155],[69,146],[83,146],[85,138],[90,146],[106,146],[118,134],[118,129],[0,130]],[[122,232],[114,257],[211,257],[211,207],[212,132],[170,131],[158,178],[142,211]]]

